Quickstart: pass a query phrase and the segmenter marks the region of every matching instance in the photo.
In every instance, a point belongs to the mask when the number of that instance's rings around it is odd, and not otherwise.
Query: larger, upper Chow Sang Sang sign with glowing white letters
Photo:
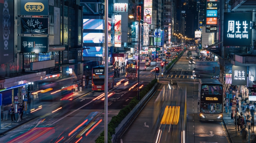
[[[251,46],[252,17],[252,12],[224,13],[223,46]]]

